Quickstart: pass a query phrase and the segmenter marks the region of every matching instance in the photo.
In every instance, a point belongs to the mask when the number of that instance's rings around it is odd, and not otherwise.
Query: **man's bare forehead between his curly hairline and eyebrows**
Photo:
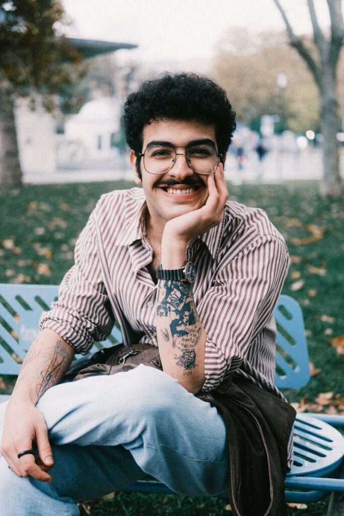
[[[193,120],[155,120],[143,127],[143,149],[153,140],[169,141],[175,147],[185,147],[192,140],[209,138],[216,143],[215,125]]]

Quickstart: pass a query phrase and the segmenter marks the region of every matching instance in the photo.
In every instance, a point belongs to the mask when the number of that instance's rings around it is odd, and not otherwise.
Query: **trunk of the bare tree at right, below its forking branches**
[[[339,131],[338,101],[335,79],[331,71],[325,72],[321,84],[321,133],[323,182],[321,193],[326,197],[340,197],[343,193],[339,172],[339,150],[337,132]]]

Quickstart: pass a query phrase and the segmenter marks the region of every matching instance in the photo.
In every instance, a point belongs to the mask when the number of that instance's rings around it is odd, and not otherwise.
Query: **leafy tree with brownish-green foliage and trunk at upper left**
[[[81,56],[58,34],[65,23],[58,0],[0,0],[0,183],[22,181],[14,104],[18,95],[42,95],[53,108],[52,94],[80,74]],[[32,96],[34,99],[34,96]]]

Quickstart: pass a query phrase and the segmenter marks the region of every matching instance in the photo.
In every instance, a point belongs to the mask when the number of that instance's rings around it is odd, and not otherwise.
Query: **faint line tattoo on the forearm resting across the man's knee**
[[[53,353],[48,357],[48,363],[40,372],[40,382],[36,386],[37,401],[47,389],[58,382],[68,365],[68,353],[58,340]]]

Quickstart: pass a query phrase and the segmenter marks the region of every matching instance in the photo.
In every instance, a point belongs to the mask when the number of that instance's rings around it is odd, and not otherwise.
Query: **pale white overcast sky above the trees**
[[[283,29],[273,0],[62,0],[69,36],[137,43],[147,61],[211,58],[231,27]],[[306,0],[282,0],[297,33],[310,32]],[[326,1],[315,0],[328,25]],[[130,51],[132,52],[132,51]]]

